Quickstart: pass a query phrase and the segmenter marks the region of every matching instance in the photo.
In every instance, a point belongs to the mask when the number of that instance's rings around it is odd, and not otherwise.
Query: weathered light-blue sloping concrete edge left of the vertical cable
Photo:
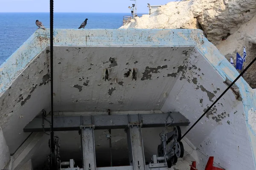
[[[47,41],[44,34],[36,31],[2,65],[0,65],[0,95],[12,84],[12,81],[38,54],[45,50]]]

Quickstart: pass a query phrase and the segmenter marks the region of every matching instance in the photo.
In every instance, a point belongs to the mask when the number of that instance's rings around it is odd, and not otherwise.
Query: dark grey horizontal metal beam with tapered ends
[[[172,120],[173,119],[173,120]],[[99,129],[125,129],[128,125],[142,125],[142,127],[187,126],[189,120],[180,113],[151,113],[151,114],[122,114],[103,116],[55,116],[54,131],[79,130],[80,126],[93,126]],[[93,123],[92,123],[93,122]],[[50,126],[45,123],[44,130]],[[43,132],[42,118],[38,117],[23,128],[24,132]]]

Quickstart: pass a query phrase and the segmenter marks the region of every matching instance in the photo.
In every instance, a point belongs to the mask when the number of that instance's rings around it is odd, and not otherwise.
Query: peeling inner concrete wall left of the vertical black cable
[[[1,95],[0,126],[10,153],[14,153],[29,135],[23,132],[23,127],[42,109],[49,113],[49,80],[49,61],[47,50],[44,50]]]

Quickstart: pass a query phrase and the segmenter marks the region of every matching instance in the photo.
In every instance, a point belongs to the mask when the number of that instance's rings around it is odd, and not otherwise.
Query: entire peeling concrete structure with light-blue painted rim
[[[37,30],[0,66],[0,141],[6,141],[0,143],[6,150],[0,167],[10,159],[8,147],[10,153],[23,155],[12,158],[12,168],[31,163],[35,168],[47,161],[48,136],[32,133],[32,138],[23,128],[42,109],[50,110],[48,46],[49,30]],[[238,76],[201,30],[55,29],[53,52],[55,116],[108,114],[106,109],[111,114],[173,111],[192,125]],[[103,77],[106,68],[109,81]],[[131,78],[133,68],[136,80]],[[255,169],[255,109],[254,91],[239,79],[183,140],[184,159],[196,160],[199,170],[208,156],[225,169]],[[156,154],[162,130],[143,129],[146,161]],[[61,139],[61,159],[79,160],[78,132],[55,134]],[[98,167],[109,164],[106,134],[95,131]],[[113,164],[128,164],[125,132],[113,130],[112,137]]]

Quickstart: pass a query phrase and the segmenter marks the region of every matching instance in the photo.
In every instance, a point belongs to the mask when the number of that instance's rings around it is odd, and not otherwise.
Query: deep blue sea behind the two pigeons
[[[54,13],[54,28],[79,28],[88,18],[85,29],[115,29],[130,13]],[[38,28],[35,20],[49,28],[49,13],[0,13],[0,65]]]

